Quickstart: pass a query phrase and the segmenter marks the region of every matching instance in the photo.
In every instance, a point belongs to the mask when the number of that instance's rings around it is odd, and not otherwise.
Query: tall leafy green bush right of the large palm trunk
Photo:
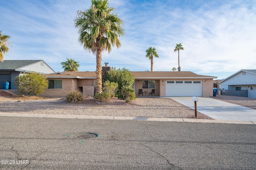
[[[132,88],[132,84],[134,84],[134,76],[133,74],[126,68],[111,68],[111,70],[108,71],[107,80],[110,82],[117,82],[118,88],[116,90],[116,94],[121,94],[122,96],[122,90],[126,87]]]

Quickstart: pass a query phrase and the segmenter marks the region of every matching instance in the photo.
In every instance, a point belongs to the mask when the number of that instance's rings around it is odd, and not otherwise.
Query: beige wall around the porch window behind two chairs
[[[150,79],[144,79],[144,80],[150,80]],[[139,89],[142,89],[143,96],[148,96],[150,92],[152,92],[152,88],[142,88],[142,81],[143,80],[135,80],[135,87],[136,87],[136,96],[139,96]],[[160,80],[155,80],[155,95],[160,96]],[[140,94],[142,96],[142,94]],[[151,96],[151,95],[150,95]],[[153,94],[154,96],[154,94]]]

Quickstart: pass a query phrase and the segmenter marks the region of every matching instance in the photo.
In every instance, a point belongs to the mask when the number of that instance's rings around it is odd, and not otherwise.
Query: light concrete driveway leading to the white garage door
[[[195,109],[192,97],[166,97]],[[256,110],[209,97],[199,97],[197,111],[216,120],[256,121]]]

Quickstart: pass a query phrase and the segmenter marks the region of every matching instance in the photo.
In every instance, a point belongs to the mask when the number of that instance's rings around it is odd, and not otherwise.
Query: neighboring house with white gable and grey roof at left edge
[[[2,82],[10,82],[9,89],[16,89],[12,83],[14,78],[25,72],[50,74],[54,70],[43,60],[4,60],[0,62],[0,89],[2,89]]]

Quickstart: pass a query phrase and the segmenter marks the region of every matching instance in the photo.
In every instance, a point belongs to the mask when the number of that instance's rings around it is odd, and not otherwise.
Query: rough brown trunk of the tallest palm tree
[[[97,45],[97,52],[96,52],[96,94],[102,92],[102,49],[100,45]]]

